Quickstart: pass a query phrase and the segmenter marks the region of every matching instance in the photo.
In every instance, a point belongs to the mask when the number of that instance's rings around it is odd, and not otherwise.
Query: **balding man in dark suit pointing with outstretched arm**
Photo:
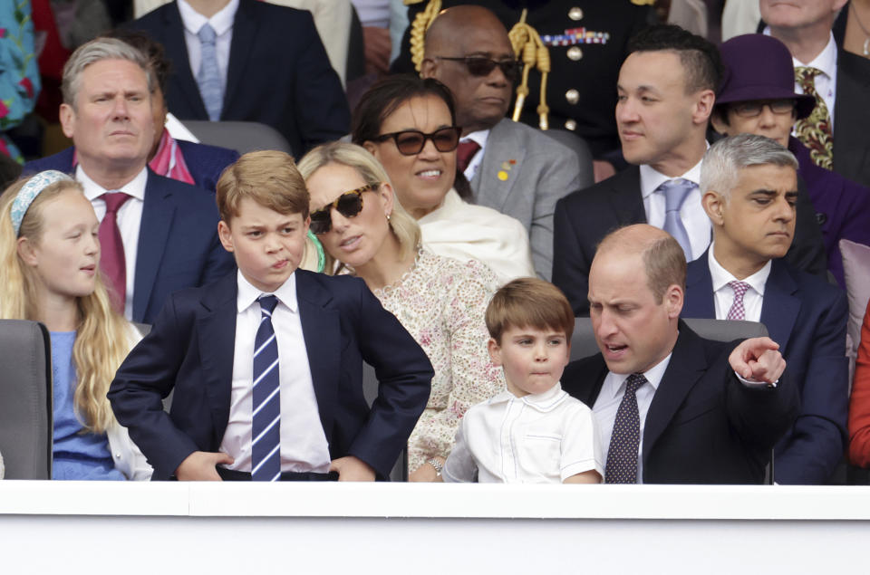
[[[759,484],[797,413],[768,338],[703,340],[680,321],[686,261],[651,225],[602,241],[589,276],[601,353],[570,363],[565,391],[594,411],[608,483]]]

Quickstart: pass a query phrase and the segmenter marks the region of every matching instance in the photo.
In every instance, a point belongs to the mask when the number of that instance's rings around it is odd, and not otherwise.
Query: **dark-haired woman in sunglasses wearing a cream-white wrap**
[[[526,228],[494,209],[467,204],[456,192],[461,128],[440,81],[391,76],[362,95],[352,124],[353,143],[382,163],[432,252],[476,259],[502,282],[535,274]]]

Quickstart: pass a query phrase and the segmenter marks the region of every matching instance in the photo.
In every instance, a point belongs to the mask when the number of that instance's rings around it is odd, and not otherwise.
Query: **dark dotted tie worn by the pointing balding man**
[[[607,449],[605,484],[637,483],[637,449],[641,444],[641,417],[637,409],[637,389],[646,383],[640,373],[625,380],[625,395],[616,409],[614,433]]]

